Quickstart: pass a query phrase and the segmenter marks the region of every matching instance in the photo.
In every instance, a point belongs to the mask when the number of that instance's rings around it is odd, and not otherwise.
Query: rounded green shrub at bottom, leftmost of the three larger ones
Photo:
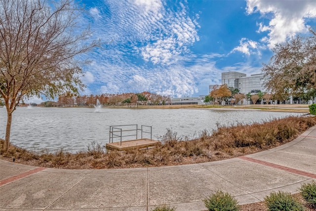
[[[237,199],[222,191],[216,191],[203,202],[209,211],[239,211],[240,209]]]

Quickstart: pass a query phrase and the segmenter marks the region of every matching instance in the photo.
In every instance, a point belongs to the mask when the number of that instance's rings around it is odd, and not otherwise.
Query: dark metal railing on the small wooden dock
[[[150,131],[146,131],[145,128],[150,128]],[[113,139],[119,138],[120,145],[122,145],[122,137],[133,136],[138,139],[138,131],[140,131],[141,138],[143,138],[143,133],[150,134],[150,140],[152,140],[152,127],[143,126],[138,128],[138,125],[120,125],[120,126],[110,126],[110,140],[109,143],[113,143]],[[112,141],[112,142],[111,142]]]

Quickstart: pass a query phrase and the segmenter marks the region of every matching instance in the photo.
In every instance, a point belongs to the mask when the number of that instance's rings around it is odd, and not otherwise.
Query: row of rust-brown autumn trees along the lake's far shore
[[[88,106],[93,107],[97,101],[102,106],[122,106],[122,105],[167,105],[171,104],[170,96],[164,96],[157,93],[144,91],[141,93],[104,93],[100,95],[82,95],[76,96],[71,92],[59,95],[57,102],[47,101],[42,102],[40,106],[44,107],[74,107],[74,106]]]

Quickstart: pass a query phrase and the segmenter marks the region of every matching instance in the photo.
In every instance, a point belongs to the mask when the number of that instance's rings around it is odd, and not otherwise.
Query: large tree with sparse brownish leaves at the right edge
[[[316,88],[316,32],[277,43],[269,64],[264,64],[265,86],[280,100]]]

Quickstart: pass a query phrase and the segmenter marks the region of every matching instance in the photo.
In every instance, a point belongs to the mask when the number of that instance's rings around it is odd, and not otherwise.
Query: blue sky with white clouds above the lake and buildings
[[[82,0],[94,39],[81,94],[208,94],[221,73],[257,74],[272,48],[316,27],[316,0]]]

